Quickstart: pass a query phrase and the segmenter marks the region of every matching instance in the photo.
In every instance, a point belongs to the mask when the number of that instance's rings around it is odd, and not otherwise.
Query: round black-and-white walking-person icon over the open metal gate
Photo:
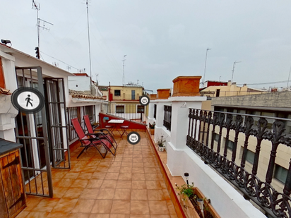
[[[37,113],[44,107],[44,97],[32,87],[20,87],[11,96],[11,102],[18,111],[26,114]]]

